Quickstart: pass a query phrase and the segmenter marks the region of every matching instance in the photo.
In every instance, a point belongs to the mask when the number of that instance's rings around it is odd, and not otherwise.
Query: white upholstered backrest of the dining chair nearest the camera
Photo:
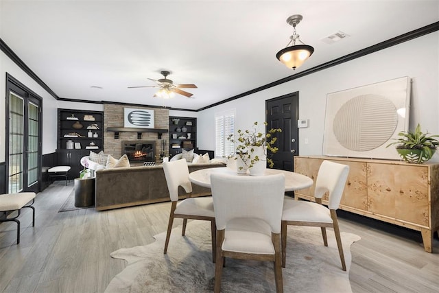
[[[272,233],[281,233],[285,176],[233,176],[211,174],[211,189],[217,230],[233,218],[257,218],[267,222]]]

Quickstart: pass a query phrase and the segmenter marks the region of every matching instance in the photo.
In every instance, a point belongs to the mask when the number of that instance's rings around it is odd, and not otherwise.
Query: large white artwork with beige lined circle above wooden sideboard
[[[408,130],[410,78],[396,78],[327,95],[323,154],[400,159],[385,148]]]

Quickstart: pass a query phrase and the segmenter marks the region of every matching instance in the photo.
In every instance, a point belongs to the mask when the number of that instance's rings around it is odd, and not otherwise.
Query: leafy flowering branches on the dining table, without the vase
[[[267,122],[263,123],[264,126],[267,126]],[[254,163],[261,160],[259,156],[252,156],[252,153],[255,151],[257,147],[265,147],[264,152],[270,152],[271,154],[276,153],[279,149],[274,146],[274,143],[277,141],[277,137],[274,137],[274,133],[282,132],[281,128],[271,128],[267,133],[263,134],[257,130],[258,122],[254,122],[251,130],[237,130],[238,137],[235,138],[233,134],[230,134],[227,137],[228,141],[233,143],[237,142],[237,147],[235,149],[235,154],[230,154],[230,157],[235,157],[235,160],[239,157],[246,167],[251,168],[254,166]],[[272,168],[274,163],[272,159],[267,157],[268,166]],[[239,167],[244,168],[244,167]]]

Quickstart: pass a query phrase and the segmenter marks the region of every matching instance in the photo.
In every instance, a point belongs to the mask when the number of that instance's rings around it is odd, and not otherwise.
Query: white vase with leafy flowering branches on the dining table
[[[263,123],[267,126],[267,122]],[[281,128],[271,128],[267,133],[263,134],[257,130],[258,122],[254,122],[251,130],[237,130],[238,137],[235,138],[230,134],[227,139],[233,143],[237,143],[235,153],[231,156],[238,160],[238,173],[246,172],[246,168],[250,170],[250,175],[261,175],[265,171],[267,164],[270,168],[274,166],[272,159],[267,157],[268,152],[274,154],[278,148],[274,146],[277,138],[274,133],[282,132]],[[230,156],[229,156],[230,157]],[[265,163],[266,162],[266,163]]]

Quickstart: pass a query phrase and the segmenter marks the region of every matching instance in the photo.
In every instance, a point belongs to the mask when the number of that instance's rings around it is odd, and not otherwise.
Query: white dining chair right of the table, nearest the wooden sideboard
[[[282,213],[282,266],[285,268],[287,257],[287,225],[318,226],[322,230],[324,246],[328,246],[326,227],[332,227],[337,241],[342,269],[346,271],[342,239],[337,220],[337,209],[342,199],[344,185],[349,174],[349,166],[323,161],[318,170],[314,197],[316,202],[287,199],[283,203]],[[329,194],[329,204],[322,204],[322,196]]]

